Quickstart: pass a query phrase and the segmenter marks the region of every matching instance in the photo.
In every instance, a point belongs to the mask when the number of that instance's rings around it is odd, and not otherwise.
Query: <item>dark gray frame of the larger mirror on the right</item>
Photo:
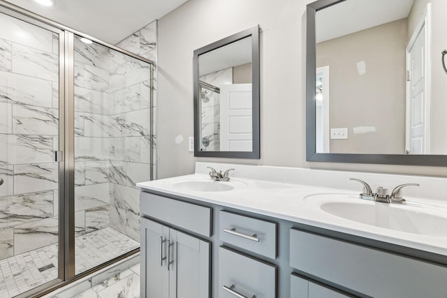
[[[316,28],[315,14],[318,10],[346,0],[318,0],[307,5],[306,38],[306,161],[328,163],[372,163],[388,165],[446,166],[444,155],[405,154],[335,154],[316,153]],[[383,144],[386,146],[386,144]]]

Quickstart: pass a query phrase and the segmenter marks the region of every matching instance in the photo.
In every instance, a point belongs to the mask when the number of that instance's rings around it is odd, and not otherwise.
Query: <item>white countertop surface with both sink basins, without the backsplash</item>
[[[379,240],[390,241],[389,237],[393,237],[391,241],[396,244],[447,254],[447,204],[444,202],[410,198],[407,204],[386,204],[360,200],[360,190],[342,192],[242,178],[215,181],[208,174],[150,184],[163,192],[186,194],[205,202],[226,203],[229,207]],[[144,188],[145,184],[139,186]]]

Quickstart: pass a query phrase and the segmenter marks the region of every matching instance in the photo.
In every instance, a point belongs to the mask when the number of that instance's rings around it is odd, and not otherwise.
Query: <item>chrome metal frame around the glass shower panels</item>
[[[0,13],[15,17],[24,22],[34,24],[43,29],[47,29],[59,34],[59,150],[63,151],[63,161],[59,162],[59,256],[58,256],[58,278],[49,283],[38,286],[28,292],[24,292],[17,297],[41,297],[42,295],[60,288],[68,283],[77,281],[95,271],[103,269],[114,262],[123,260],[140,251],[136,248],[133,251],[124,253],[118,258],[89,269],[82,274],[75,275],[75,151],[74,151],[74,38],[75,35],[88,38],[89,40],[103,45],[122,54],[138,59],[150,64],[150,107],[153,107],[154,100],[154,61],[140,57],[137,54],[123,50],[115,45],[105,43],[103,40],[94,38],[80,31],[76,31],[62,24],[49,20],[41,15],[32,13],[18,6],[0,0]],[[153,112],[151,108],[151,121]],[[152,138],[151,124],[151,138]],[[153,146],[150,149],[150,177],[153,179]]]

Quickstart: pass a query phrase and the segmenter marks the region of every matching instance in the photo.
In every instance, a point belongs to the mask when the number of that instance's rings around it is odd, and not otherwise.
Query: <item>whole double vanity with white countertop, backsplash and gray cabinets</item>
[[[236,170],[215,181],[209,165]],[[403,191],[406,204],[362,200],[356,175],[420,187]],[[142,295],[166,267],[200,298],[447,297],[445,179],[196,163],[196,174],[137,185]]]

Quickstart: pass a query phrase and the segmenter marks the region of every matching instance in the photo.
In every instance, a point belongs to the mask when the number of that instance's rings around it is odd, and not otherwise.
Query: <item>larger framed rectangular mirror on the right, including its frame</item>
[[[426,0],[307,6],[307,161],[447,165],[446,11]]]

